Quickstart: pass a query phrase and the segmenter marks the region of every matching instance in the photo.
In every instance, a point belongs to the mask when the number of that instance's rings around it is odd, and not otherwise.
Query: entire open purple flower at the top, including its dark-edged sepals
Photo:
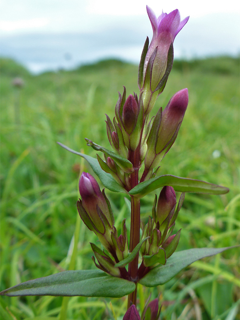
[[[178,9],[169,14],[162,12],[158,18],[148,6],[147,12],[153,37],[149,47],[147,38],[139,65],[139,89],[142,93],[145,115],[149,114],[158,95],[164,90],[172,69],[173,41],[189,18],[180,21]],[[147,53],[144,53],[146,51]]]

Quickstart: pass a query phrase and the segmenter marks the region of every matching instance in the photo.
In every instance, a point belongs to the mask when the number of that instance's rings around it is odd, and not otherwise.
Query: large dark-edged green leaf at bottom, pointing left
[[[17,284],[1,295],[120,298],[135,287],[134,282],[109,276],[101,270],[69,270]]]

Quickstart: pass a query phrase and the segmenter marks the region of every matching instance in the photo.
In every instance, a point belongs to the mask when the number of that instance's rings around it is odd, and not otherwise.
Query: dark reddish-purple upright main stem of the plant
[[[137,148],[135,152],[131,152],[130,161],[133,164],[134,172],[131,173],[131,188],[134,188],[138,184],[138,171],[139,171],[139,155],[140,152]],[[140,242],[140,199],[131,196],[131,229],[130,229],[130,245],[129,251],[136,247]],[[136,283],[136,289],[128,295],[128,308],[131,304],[136,305],[137,301],[137,274],[138,274],[138,257],[136,255],[134,260],[130,262],[128,266],[128,273],[131,277],[131,280]]]

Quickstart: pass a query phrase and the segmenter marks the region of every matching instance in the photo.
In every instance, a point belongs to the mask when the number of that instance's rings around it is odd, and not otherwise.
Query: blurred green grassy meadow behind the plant
[[[80,157],[56,144],[95,156],[87,137],[109,148],[105,113],[112,119],[123,85],[138,92],[138,67],[100,61],[73,71],[33,76],[10,59],[1,60],[1,290],[33,278],[94,269],[85,228],[76,210],[78,178],[91,172]],[[24,85],[12,85],[15,77]],[[239,59],[216,57],[174,62],[151,115],[187,87],[189,105],[178,138],[159,174],[227,186],[223,196],[186,194],[176,221],[182,228],[177,250],[239,244]],[[106,190],[116,228],[130,213],[124,195]],[[157,192],[159,194],[159,192]],[[177,196],[180,196],[179,194]],[[154,193],[141,202],[142,220],[151,215]],[[76,221],[80,230],[75,238]],[[72,253],[77,249],[76,260]],[[193,263],[156,288],[139,285],[140,310],[152,292],[160,294],[161,319],[239,319],[239,250]],[[1,297],[1,319],[122,319],[127,299]],[[67,312],[66,312],[67,308]],[[66,313],[65,313],[66,312]]]

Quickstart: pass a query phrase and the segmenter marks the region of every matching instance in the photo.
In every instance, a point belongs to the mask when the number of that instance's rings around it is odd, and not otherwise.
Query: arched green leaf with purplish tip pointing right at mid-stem
[[[214,195],[221,195],[229,191],[226,187],[218,186],[202,180],[181,178],[171,174],[165,174],[139,183],[129,191],[129,194],[142,198],[149,192],[164,186],[171,186],[175,191],[179,192],[209,193]]]

